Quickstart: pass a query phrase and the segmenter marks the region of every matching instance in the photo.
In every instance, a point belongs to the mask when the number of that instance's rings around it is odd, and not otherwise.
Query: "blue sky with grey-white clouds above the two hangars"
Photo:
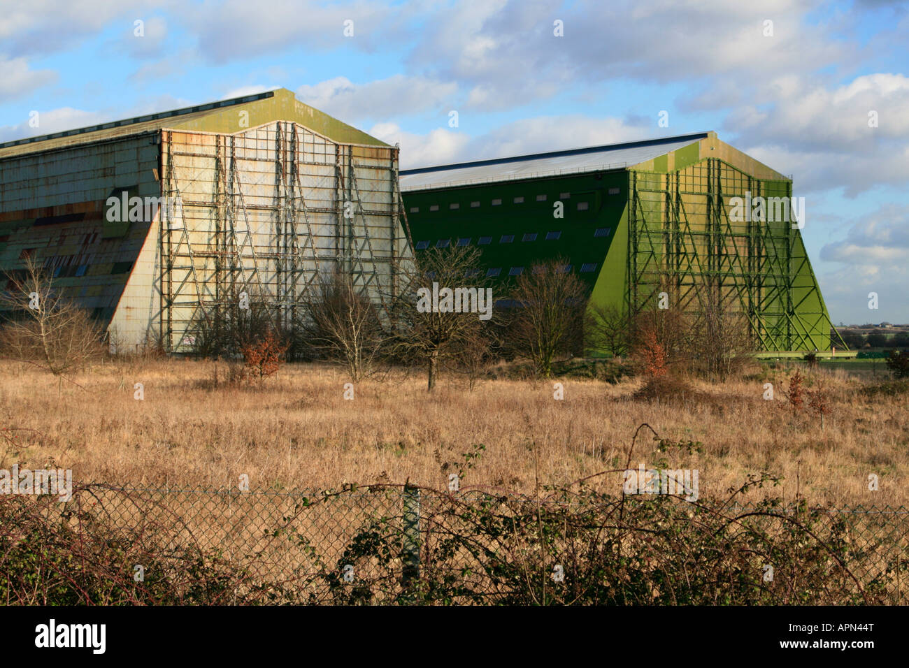
[[[0,3],[0,142],[279,86],[404,167],[715,130],[793,175],[834,323],[909,322],[907,2]]]

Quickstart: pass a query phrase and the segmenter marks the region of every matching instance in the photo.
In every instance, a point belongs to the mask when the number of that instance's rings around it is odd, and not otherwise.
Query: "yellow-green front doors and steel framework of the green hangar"
[[[730,220],[730,198],[788,198],[792,182],[718,158],[629,178],[627,313],[654,308],[665,292],[685,312],[721,304],[744,314],[761,350],[829,348],[830,318],[797,226]]]

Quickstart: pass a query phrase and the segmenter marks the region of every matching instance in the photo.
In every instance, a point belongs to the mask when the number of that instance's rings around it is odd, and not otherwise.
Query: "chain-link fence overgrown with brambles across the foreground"
[[[905,508],[377,485],[0,497],[7,603],[907,603]]]

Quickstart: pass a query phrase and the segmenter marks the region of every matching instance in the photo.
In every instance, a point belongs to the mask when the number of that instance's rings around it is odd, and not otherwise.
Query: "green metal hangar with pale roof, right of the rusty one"
[[[499,294],[534,263],[562,257],[594,304],[634,313],[665,292],[668,304],[698,312],[722,294],[762,349],[830,349],[830,318],[789,209],[792,180],[714,132],[409,169],[400,178],[417,256],[478,245]],[[737,215],[736,197],[763,198],[764,214]]]

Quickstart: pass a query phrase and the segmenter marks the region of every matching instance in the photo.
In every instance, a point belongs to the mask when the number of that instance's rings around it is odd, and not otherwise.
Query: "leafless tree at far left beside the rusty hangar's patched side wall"
[[[104,354],[101,328],[57,289],[34,257],[26,258],[24,274],[7,274],[0,300],[12,312],[3,344],[14,359],[38,364],[62,383],[66,374]]]

